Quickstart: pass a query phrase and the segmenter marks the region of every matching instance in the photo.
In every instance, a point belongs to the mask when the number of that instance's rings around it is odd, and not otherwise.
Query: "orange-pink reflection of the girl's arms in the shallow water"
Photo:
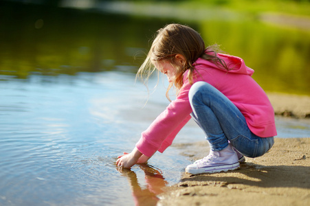
[[[142,187],[137,178],[137,174],[129,169],[122,169],[117,166],[118,172],[126,176],[133,194],[135,205],[156,205],[159,198],[157,195],[164,192],[162,188],[168,185],[162,171],[148,164],[140,164],[140,169],[144,172],[146,187]]]

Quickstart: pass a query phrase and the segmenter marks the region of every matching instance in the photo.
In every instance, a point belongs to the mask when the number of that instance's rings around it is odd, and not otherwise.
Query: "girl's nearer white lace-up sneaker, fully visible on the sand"
[[[212,151],[210,154],[195,161],[195,163],[186,167],[186,173],[189,174],[203,174],[214,173],[228,170],[236,170],[240,167],[236,152],[232,149],[232,146],[228,145],[227,148],[221,151]]]

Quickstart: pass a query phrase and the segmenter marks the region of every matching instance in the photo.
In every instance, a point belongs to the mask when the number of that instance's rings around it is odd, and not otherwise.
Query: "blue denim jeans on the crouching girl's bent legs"
[[[254,135],[239,109],[207,82],[193,84],[188,96],[191,115],[206,133],[211,150],[223,150],[230,142],[246,157],[260,157],[274,145],[274,137]]]

